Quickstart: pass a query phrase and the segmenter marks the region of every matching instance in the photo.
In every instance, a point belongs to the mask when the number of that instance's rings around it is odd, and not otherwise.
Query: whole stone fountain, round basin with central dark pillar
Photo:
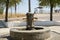
[[[27,26],[12,28],[10,36],[12,40],[46,40],[50,37],[49,28],[35,27],[33,25],[33,15],[27,13]]]

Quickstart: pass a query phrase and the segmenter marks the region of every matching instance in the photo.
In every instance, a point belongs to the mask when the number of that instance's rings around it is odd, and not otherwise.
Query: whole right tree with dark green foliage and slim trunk
[[[60,0],[39,0],[39,5],[50,6],[50,21],[53,21],[53,7],[60,5]]]

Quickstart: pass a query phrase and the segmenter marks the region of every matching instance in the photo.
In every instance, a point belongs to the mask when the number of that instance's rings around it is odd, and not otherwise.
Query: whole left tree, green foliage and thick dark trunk
[[[6,7],[5,22],[8,21],[8,8],[10,8],[11,6],[14,6],[15,3],[19,4],[19,2],[21,2],[21,0],[0,0],[0,3],[2,3],[3,5],[6,4],[4,6]]]

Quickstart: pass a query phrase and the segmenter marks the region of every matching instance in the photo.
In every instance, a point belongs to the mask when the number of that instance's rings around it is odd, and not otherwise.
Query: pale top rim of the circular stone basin
[[[45,28],[43,27],[44,29],[40,29],[40,30],[22,30],[22,29],[26,29],[26,27],[23,27],[23,28],[11,28],[10,31],[13,31],[13,32],[18,32],[18,33],[44,33],[44,32],[48,32],[50,31],[49,28]],[[20,30],[18,30],[20,29]]]

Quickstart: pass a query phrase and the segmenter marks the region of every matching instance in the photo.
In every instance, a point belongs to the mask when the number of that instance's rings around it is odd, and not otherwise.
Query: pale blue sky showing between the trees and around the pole
[[[36,7],[38,7],[38,1],[37,0],[31,0],[31,12],[34,13],[34,10]],[[49,12],[49,7],[43,8],[44,12]],[[5,11],[4,11],[5,12]],[[14,7],[12,7],[12,12],[15,12]],[[17,13],[27,13],[28,12],[28,0],[22,0],[21,3],[17,5]],[[11,8],[9,8],[9,13],[11,13]]]

